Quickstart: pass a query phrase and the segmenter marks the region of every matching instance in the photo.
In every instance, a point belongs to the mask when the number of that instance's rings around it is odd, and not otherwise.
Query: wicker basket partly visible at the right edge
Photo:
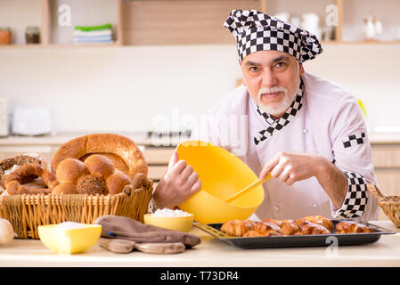
[[[400,227],[400,196],[385,196],[374,184],[367,184],[367,188],[376,199],[383,213],[396,225]]]

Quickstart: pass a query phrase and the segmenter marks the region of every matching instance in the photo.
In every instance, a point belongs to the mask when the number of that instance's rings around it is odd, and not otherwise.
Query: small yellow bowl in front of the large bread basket
[[[61,228],[57,224],[39,225],[37,231],[46,248],[58,254],[77,254],[92,248],[102,234],[100,224],[81,224],[82,228]]]

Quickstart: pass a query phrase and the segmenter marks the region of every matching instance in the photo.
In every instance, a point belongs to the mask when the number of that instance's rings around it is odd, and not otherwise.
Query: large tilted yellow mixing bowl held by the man
[[[229,151],[208,142],[186,141],[176,147],[183,159],[199,174],[201,190],[179,208],[192,213],[201,224],[224,223],[251,216],[264,199],[262,185],[231,204],[225,202],[237,191],[257,181],[257,175]]]

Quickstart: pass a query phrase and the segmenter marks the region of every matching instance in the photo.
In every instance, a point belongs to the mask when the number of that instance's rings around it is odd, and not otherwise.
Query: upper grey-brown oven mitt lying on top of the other
[[[94,224],[102,225],[102,237],[108,239],[130,240],[137,243],[181,242],[186,248],[194,247],[201,241],[194,234],[142,224],[127,216],[99,216],[94,220]]]

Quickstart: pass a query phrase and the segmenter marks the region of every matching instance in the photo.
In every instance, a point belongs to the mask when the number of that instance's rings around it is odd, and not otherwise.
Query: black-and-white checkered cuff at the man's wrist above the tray
[[[337,217],[355,218],[363,216],[368,202],[367,181],[362,175],[345,171],[347,176],[347,194],[342,208],[336,211]]]

